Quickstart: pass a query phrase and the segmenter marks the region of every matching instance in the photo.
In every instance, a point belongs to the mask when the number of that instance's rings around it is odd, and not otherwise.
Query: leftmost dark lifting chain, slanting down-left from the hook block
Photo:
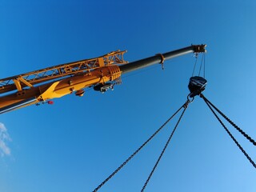
[[[140,146],[140,147],[138,148],[138,150],[135,150],[134,153],[131,154],[130,157],[127,158],[126,161],[121,164],[121,166],[118,166],[118,168],[117,168],[116,170],[114,170],[114,172],[113,172],[112,174],[110,174],[109,177],[107,177],[100,185],[98,185],[98,186],[93,190],[93,192],[98,191],[107,181],[110,180],[110,178],[112,178],[112,177],[114,176],[114,174],[117,174],[118,171],[121,170],[122,167],[127,164],[127,162],[130,162],[130,160],[131,160],[132,158],[134,158],[135,154],[138,154],[138,151],[142,150],[142,148],[143,148],[144,146],[146,146],[146,144],[147,144],[148,142],[150,142],[150,140],[151,140],[152,138],[154,138],[154,136],[155,136],[156,134],[158,134],[158,132],[159,132],[160,130],[162,130],[162,128],[163,128],[164,126],[166,126],[166,124],[167,124],[168,122],[170,122],[170,120],[171,120],[172,118],[174,118],[174,116],[175,116],[176,114],[178,114],[178,112],[179,112],[180,110],[182,110],[183,107],[186,107],[186,106],[187,106],[187,102],[185,102],[185,104],[183,104],[170,118],[168,118],[167,121],[166,121],[164,124],[162,124],[162,126],[160,126],[160,127],[158,128],[158,130],[156,130],[156,131],[154,132],[154,134],[152,134],[152,135],[150,136],[150,138],[148,138],[148,139],[146,140],[146,142],[144,142],[144,143],[142,144],[142,146]]]

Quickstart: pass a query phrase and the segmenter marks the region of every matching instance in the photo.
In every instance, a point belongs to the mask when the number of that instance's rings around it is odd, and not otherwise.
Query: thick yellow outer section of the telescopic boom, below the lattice
[[[64,78],[60,81],[48,82],[42,86],[32,86],[30,89],[21,90],[14,94],[0,97],[0,109],[6,106],[15,105],[15,103],[18,102],[26,101],[29,98],[37,98],[37,100],[24,106],[30,106],[31,104],[43,102],[52,98],[61,98],[66,94],[72,94],[74,91],[82,90],[88,86],[114,81],[115,79],[120,78],[120,76],[121,70],[119,66],[104,66],[85,74]]]

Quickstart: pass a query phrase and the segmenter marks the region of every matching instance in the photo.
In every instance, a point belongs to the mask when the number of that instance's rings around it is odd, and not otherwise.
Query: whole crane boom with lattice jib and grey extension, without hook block
[[[86,87],[105,92],[122,74],[139,70],[189,53],[204,53],[206,45],[191,45],[135,62],[126,62],[126,50],[113,51],[98,58],[51,66],[26,74],[0,79],[0,114],[74,93],[82,96]]]

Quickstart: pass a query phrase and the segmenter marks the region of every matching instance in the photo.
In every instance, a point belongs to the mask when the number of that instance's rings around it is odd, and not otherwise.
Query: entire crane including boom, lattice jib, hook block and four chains
[[[162,64],[163,67],[165,60],[189,53],[194,53],[196,55],[198,53],[205,53],[205,48],[206,45],[203,44],[191,45],[179,50],[167,52],[165,54],[155,54],[149,58],[143,58],[130,63],[126,62],[123,58],[123,54],[125,54],[126,51],[117,50],[98,58],[70,62],[58,66],[51,66],[42,70],[35,70],[26,74],[2,78],[0,79],[0,114],[25,106],[30,106],[32,104],[38,104],[40,102],[48,101],[50,103],[50,99],[61,98],[66,94],[74,93],[76,96],[81,97],[84,94],[84,89],[86,87],[93,87],[94,90],[105,92],[106,90],[113,88],[114,84],[119,81],[122,74],[130,73],[131,71],[139,70],[158,63]],[[139,148],[135,150],[129,158],[126,158],[126,160],[122,162],[122,164],[118,166],[118,168],[114,170],[114,172],[110,174],[110,176],[108,176],[102,183],[100,183],[93,191],[98,191],[103,185],[105,185],[106,182],[110,180],[110,178],[114,176],[114,174],[117,174],[123,166],[126,166],[126,164],[130,162],[130,160],[134,158],[134,156],[138,154],[138,152],[142,150],[142,148],[146,146],[146,144],[150,142],[151,139],[154,138],[154,136],[158,134],[158,132],[162,130],[162,128],[166,126],[166,124],[170,122],[170,120],[176,114],[178,114],[180,110],[183,109],[180,118],[178,118],[178,122],[174,126],[174,130],[172,130],[166,145],[164,146],[157,162],[154,164],[154,167],[150,172],[149,177],[142,187],[141,191],[144,191],[152,174],[154,174],[154,170],[158,166],[158,162],[160,162],[162,155],[165,153],[166,147],[169,145],[170,139],[173,137],[174,131],[182,119],[188,104],[194,100],[194,96],[196,95],[199,95],[200,98],[206,102],[206,105],[209,106],[214,116],[218,119],[218,122],[220,122],[224,130],[226,130],[226,133],[229,134],[230,138],[238,146],[239,150],[241,150],[246,156],[252,166],[256,168],[256,163],[252,160],[252,158],[250,158],[250,155],[246,153],[246,150],[242,148],[238,140],[234,138],[230,130],[228,130],[222,120],[218,117],[218,114],[225,118],[231,126],[234,126],[234,128],[238,130],[238,132],[254,146],[256,146],[255,140],[246,134],[246,132],[234,122],[232,122],[230,118],[227,118],[221,110],[218,110],[218,108],[202,94],[206,83],[207,81],[205,78],[199,76],[191,77],[188,86],[190,94],[187,97],[187,101],[170,118],[168,118],[168,120],[162,126],[160,126],[158,130],[156,130],[154,134],[152,134],[150,138],[148,138],[146,142],[142,144],[142,146],[139,146]],[[192,100],[190,100],[189,97],[192,98]]]

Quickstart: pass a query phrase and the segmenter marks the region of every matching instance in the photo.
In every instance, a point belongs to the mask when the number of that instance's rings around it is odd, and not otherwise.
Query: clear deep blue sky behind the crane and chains
[[[255,10],[253,0],[0,0],[0,78],[112,50],[128,50],[133,62],[205,43],[206,98],[255,139]],[[193,66],[187,54],[165,70],[125,74],[106,94],[1,114],[0,191],[94,190],[186,101]],[[175,120],[98,191],[140,191]],[[230,131],[256,162],[255,147]],[[254,167],[195,98],[145,191],[256,191],[255,181]]]

